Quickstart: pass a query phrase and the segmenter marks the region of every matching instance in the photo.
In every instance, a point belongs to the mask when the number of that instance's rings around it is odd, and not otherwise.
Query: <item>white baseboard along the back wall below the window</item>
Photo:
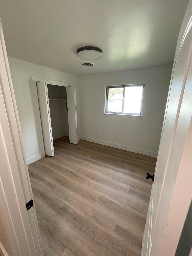
[[[157,154],[158,154],[157,152],[148,151],[148,150],[145,150],[145,149],[133,148],[133,147],[129,147],[129,146],[126,146],[126,145],[121,145],[121,144],[117,144],[117,143],[113,143],[113,142],[109,142],[109,141],[105,141],[105,140],[94,139],[94,138],[85,137],[85,136],[81,136],[81,139],[91,141],[91,142],[94,142],[94,143],[98,143],[98,144],[101,144],[101,145],[109,146],[109,147],[112,147],[112,148],[119,148],[119,149],[131,151],[131,152],[146,155],[146,156],[157,157]]]

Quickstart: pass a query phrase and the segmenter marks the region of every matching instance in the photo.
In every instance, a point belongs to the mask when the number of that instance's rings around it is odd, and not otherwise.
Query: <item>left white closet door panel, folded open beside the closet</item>
[[[47,83],[37,82],[37,92],[39,99],[39,110],[41,116],[41,126],[43,132],[45,155],[54,156]]]

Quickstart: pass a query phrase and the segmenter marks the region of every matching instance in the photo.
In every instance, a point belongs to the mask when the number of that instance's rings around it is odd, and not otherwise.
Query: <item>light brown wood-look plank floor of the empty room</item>
[[[141,255],[156,158],[68,137],[28,166],[45,256]]]

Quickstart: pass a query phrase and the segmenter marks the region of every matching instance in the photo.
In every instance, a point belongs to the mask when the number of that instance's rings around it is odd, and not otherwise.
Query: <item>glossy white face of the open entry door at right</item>
[[[188,139],[192,116],[192,25],[191,19],[189,20],[181,45],[176,53],[172,71],[155,179],[143,236],[142,256],[161,255],[161,242],[166,220],[184,145]]]

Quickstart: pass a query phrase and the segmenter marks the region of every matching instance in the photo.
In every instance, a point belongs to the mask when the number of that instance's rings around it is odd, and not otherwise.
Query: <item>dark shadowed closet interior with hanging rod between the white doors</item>
[[[69,136],[66,87],[52,84],[47,86],[53,140]]]

